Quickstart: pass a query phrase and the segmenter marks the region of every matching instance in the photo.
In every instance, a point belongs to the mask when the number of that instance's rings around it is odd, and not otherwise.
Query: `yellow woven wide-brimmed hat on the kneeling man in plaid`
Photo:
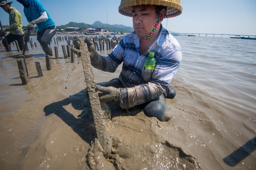
[[[182,13],[180,0],[121,0],[118,8],[119,13],[126,16],[132,16],[132,6],[136,5],[161,5],[166,6],[166,15],[164,18],[172,18]]]

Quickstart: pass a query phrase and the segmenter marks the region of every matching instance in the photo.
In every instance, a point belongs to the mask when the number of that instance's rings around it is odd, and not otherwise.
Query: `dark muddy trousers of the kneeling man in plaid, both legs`
[[[119,78],[110,80],[109,82],[97,83],[103,87],[115,87],[115,88],[124,88]],[[144,111],[144,114],[148,117],[156,117],[159,121],[169,121],[171,118],[171,113],[166,104],[165,98],[173,99],[176,95],[176,91],[169,87],[166,89],[164,94],[158,96],[154,100],[147,102],[145,104],[139,105]]]

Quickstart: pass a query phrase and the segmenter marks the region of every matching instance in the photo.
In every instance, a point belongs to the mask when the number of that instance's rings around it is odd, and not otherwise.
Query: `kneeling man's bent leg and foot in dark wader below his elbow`
[[[144,114],[148,117],[156,117],[159,121],[163,122],[169,121],[171,113],[169,112],[165,98],[173,99],[175,96],[176,91],[169,87],[164,94],[148,103],[142,104],[141,108],[143,108]]]

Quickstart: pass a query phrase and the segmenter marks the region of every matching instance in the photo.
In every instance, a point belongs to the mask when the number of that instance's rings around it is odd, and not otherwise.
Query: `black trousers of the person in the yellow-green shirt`
[[[9,35],[7,35],[5,37],[7,39],[8,44],[6,44],[5,38],[2,40],[2,43],[3,43],[4,48],[6,49],[6,51],[8,49],[7,45],[11,44],[15,40],[18,41],[18,45],[19,45],[20,50],[23,50],[23,48],[24,48],[23,37],[24,37],[24,35],[14,35],[12,33],[9,33]],[[10,47],[10,45],[9,45],[9,47]],[[11,49],[11,47],[10,47],[10,49]]]

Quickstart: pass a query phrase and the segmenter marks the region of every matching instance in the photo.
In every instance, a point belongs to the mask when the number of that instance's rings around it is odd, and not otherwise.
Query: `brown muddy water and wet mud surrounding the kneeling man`
[[[106,160],[94,141],[82,62],[65,59],[61,45],[67,41],[59,41],[60,58],[53,56],[47,71],[43,50],[31,38],[38,47],[26,52],[26,86],[12,57],[19,53],[14,46],[6,53],[0,45],[1,169],[256,168],[255,40],[175,37],[183,58],[171,83],[177,96],[167,99],[172,119],[159,122],[138,108],[126,111],[113,103],[113,118],[107,121],[112,154]],[[43,77],[37,75],[36,61]],[[120,71],[93,69],[97,83]]]

